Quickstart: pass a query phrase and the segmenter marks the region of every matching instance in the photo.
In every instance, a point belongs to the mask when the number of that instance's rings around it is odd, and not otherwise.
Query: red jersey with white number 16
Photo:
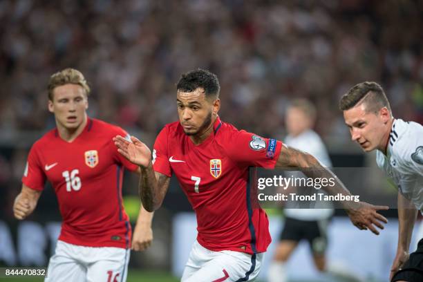
[[[48,180],[55,189],[63,223],[59,240],[90,247],[129,248],[131,227],[122,204],[124,168],[137,166],[118,153],[112,138],[127,133],[118,126],[88,119],[73,140],[57,129],[30,149],[24,185],[42,191]]]

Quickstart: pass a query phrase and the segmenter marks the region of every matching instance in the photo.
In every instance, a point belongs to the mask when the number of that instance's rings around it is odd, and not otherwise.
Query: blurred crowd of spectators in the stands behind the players
[[[325,138],[346,134],[337,101],[364,80],[422,121],[422,1],[20,0],[0,22],[2,133],[54,126],[46,84],[66,67],[90,82],[91,116],[153,135],[198,67],[220,79],[223,120],[262,135],[283,131],[292,97],[317,104]]]

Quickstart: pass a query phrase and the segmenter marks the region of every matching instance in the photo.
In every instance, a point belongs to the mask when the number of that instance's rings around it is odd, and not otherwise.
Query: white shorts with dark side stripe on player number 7
[[[181,282],[254,281],[259,275],[263,253],[207,250],[194,242]]]

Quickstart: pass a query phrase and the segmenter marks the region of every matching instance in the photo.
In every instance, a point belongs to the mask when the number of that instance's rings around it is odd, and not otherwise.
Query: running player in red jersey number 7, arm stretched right
[[[271,238],[249,167],[309,167],[316,168],[306,172],[309,177],[337,179],[307,153],[222,122],[219,91],[209,71],[186,73],[177,85],[179,122],[164,126],[153,153],[137,138],[113,139],[118,151],[141,167],[139,190],[148,211],[162,204],[172,173],[194,208],[198,236],[182,274],[185,282],[252,281],[259,274]],[[350,195],[339,180],[329,188],[329,194]],[[387,207],[343,205],[359,229],[379,234],[375,226],[386,223],[376,211]]]

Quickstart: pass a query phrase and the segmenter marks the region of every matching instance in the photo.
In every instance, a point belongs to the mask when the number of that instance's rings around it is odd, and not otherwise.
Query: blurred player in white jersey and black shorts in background
[[[285,116],[288,136],[285,144],[317,158],[324,167],[332,167],[325,144],[312,130],[317,111],[308,100],[294,100]],[[302,175],[303,173],[301,173]],[[301,177],[301,176],[299,176]],[[306,189],[304,187],[304,189]],[[302,240],[308,241],[314,265],[320,272],[328,272],[336,278],[356,279],[352,273],[327,263],[328,224],[333,215],[332,205],[324,209],[285,208],[285,224],[272,264],[269,268],[270,282],[287,281],[285,263]]]

